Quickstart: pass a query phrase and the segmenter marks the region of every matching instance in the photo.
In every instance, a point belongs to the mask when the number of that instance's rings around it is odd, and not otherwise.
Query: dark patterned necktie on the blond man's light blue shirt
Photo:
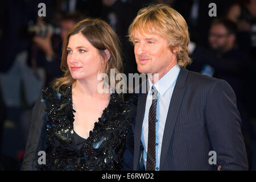
[[[158,105],[158,90],[152,86],[152,104],[148,113],[148,138],[147,138],[147,171],[155,171],[155,123],[156,123],[156,107]]]

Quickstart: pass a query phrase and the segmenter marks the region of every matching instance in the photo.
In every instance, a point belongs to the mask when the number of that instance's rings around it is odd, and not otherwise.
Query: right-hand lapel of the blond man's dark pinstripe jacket
[[[175,123],[177,121],[177,115],[183,100],[185,90],[187,88],[185,82],[187,79],[188,71],[185,68],[180,69],[179,76],[172,93],[168,114],[166,118],[166,125],[164,126],[164,134],[162,140],[162,148],[160,155],[160,170],[162,169],[163,162],[166,158],[168,147],[171,141],[172,133],[174,132]]]

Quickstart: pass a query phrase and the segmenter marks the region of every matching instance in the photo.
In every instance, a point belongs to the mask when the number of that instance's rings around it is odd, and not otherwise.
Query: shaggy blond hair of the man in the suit
[[[129,40],[133,42],[134,32],[156,34],[168,40],[172,52],[176,53],[177,64],[186,67],[192,60],[188,56],[188,26],[183,16],[167,5],[149,5],[139,10],[129,27]]]

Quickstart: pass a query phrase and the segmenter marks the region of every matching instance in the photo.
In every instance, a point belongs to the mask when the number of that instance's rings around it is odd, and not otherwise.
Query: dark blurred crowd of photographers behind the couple
[[[39,17],[39,3],[46,16]],[[256,169],[256,0],[9,0],[0,6],[0,170],[19,170],[32,107],[60,77],[61,44],[88,17],[106,20],[121,39],[124,71],[137,73],[129,24],[148,3],[164,3],[187,21],[191,71],[229,82],[237,96],[250,170]],[[215,3],[217,16],[209,16]]]

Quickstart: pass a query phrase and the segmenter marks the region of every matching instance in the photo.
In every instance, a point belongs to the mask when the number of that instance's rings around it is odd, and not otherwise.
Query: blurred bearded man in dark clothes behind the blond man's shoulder
[[[210,25],[209,47],[206,49],[190,43],[189,55],[193,59],[189,67],[192,71],[216,77],[227,81],[236,93],[237,107],[242,120],[242,133],[245,137],[247,158],[253,157],[251,140],[253,131],[251,127],[246,97],[253,98],[251,94],[251,61],[245,52],[237,47],[237,27],[228,19],[214,19]],[[252,164],[249,164],[251,169]]]

